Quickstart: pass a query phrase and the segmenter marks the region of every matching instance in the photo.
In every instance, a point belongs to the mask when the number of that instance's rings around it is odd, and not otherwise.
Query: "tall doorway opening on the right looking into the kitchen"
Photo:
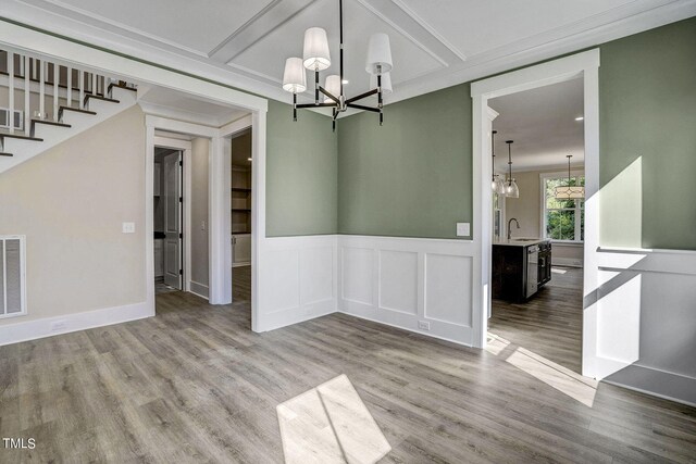
[[[583,79],[493,98],[488,106],[495,113],[488,336],[581,374]]]

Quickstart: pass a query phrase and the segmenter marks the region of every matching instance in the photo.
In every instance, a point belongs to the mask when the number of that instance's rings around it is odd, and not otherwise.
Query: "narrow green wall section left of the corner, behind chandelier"
[[[331,117],[269,100],[266,236],[336,234],[336,175]]]

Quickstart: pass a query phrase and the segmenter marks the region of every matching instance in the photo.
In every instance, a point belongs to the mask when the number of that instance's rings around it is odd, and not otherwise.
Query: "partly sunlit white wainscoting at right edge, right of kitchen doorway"
[[[696,252],[598,252],[597,351],[611,384],[696,405]]]

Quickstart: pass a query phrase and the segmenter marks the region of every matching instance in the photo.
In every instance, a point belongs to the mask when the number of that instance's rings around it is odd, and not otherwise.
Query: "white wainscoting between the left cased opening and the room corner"
[[[336,236],[265,238],[261,244],[259,330],[336,311]]]

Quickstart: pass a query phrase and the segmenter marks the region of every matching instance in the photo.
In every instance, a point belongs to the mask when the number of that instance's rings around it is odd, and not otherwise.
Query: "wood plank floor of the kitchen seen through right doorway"
[[[583,269],[554,266],[526,303],[493,300],[488,331],[574,373],[582,372]]]

